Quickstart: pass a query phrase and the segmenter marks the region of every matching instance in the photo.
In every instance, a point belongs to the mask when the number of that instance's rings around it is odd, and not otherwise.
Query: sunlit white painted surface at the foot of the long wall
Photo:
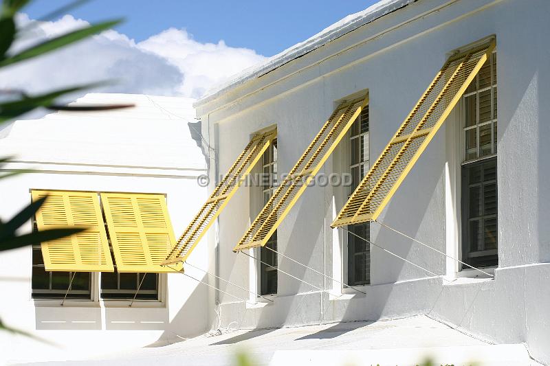
[[[485,343],[423,316],[238,330],[166,347],[80,358],[70,365],[234,365],[240,352],[246,352],[254,365],[406,366],[421,364],[428,357],[437,365],[471,365],[472,361],[476,365],[538,365],[529,358],[525,345]]]

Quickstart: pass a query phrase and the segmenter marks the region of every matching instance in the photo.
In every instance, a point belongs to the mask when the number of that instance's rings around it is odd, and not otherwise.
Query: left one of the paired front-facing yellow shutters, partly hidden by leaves
[[[47,196],[39,211],[39,230],[87,227],[86,231],[41,244],[46,271],[113,272],[98,194],[33,190],[32,200]]]

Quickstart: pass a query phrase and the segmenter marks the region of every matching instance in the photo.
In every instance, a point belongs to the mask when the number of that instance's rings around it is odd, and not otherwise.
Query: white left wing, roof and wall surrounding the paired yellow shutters
[[[34,169],[0,181],[0,218],[30,203],[30,190],[84,190],[166,194],[176,238],[204,199],[197,176],[206,161],[190,136],[193,100],[147,95],[89,94],[78,104],[133,103],[134,108],[95,113],[52,113],[15,122],[0,139],[3,171]],[[21,231],[30,231],[30,222]],[[166,343],[208,330],[206,287],[179,274],[161,275],[159,303],[34,301],[31,249],[0,254],[0,318],[54,346],[0,332],[1,361],[45,361],[121,352]],[[206,245],[190,262],[206,268]],[[186,268],[203,279],[204,273]],[[96,287],[97,290],[97,287]],[[30,352],[32,350],[32,352]]]

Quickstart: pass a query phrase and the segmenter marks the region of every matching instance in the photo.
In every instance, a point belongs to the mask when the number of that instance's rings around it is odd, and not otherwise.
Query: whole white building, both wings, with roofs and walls
[[[177,117],[190,109],[176,99],[132,96],[137,118],[123,124],[114,122],[124,111],[104,113],[105,119],[79,117],[78,127],[64,113],[17,122],[0,155],[19,156],[8,169],[39,172],[2,183],[10,192],[2,218],[28,204],[32,190],[164,194],[176,235],[201,222],[172,258],[197,244],[188,264],[219,279],[185,266],[186,274],[217,289],[165,273],[157,300],[129,307],[128,298],[102,298],[104,274],[93,274],[90,299],[61,307],[58,299],[32,299],[32,250],[21,249],[0,256],[1,276],[10,279],[0,283],[10,294],[0,317],[71,352],[78,345],[78,354],[86,347],[79,336],[114,352],[175,341],[212,324],[215,329],[218,317],[221,328],[261,329],[423,315],[478,339],[525,343],[533,358],[550,363],[549,16],[544,0],[384,0],[245,71],[194,104],[210,161],[210,198],[197,185],[203,155]],[[440,74],[443,65],[451,66]],[[434,88],[422,98],[432,80]],[[424,104],[415,113],[428,115],[413,113],[411,120],[426,123],[396,135],[419,100]],[[327,160],[314,157],[291,178],[319,168],[318,177],[351,174],[351,186],[318,179],[298,196],[272,181],[236,187],[225,180],[222,192],[215,190],[243,150],[239,178],[248,170],[252,183],[255,173],[291,172],[311,157],[300,160],[325,122],[336,126],[342,108],[351,111],[341,118],[349,123],[336,128],[340,141],[328,138],[319,150]],[[142,119],[148,114],[151,119]],[[326,131],[320,136],[325,139]],[[410,172],[405,165],[398,171],[404,179],[385,165],[388,181],[398,187],[381,181],[382,175],[374,181],[379,185],[360,185],[390,141],[401,147],[428,139]],[[63,143],[52,148],[54,141]],[[406,149],[405,163],[412,157]],[[384,166],[381,159],[377,166]],[[401,166],[397,160],[394,165]],[[375,211],[339,215],[344,205],[349,209],[355,186],[364,194],[358,205],[370,199]],[[372,201],[375,186],[384,195]],[[277,192],[289,192],[289,199],[269,201]],[[214,207],[210,216],[202,220],[201,211],[192,221],[205,202]],[[254,231],[268,202],[260,220],[265,224]],[[279,203],[288,209],[264,220]],[[346,220],[362,222],[331,227]],[[255,238],[246,234],[251,225]],[[239,243],[254,248],[234,252]],[[74,331],[61,331],[67,329]],[[14,350],[22,352],[25,342]]]

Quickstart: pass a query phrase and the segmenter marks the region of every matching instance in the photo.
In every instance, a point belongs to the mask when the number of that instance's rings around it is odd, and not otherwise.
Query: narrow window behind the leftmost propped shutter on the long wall
[[[260,186],[262,205],[266,205],[277,187],[277,139],[273,139],[262,155]],[[277,231],[267,240],[265,247],[277,250]],[[265,247],[260,249],[260,259],[269,266],[260,263],[260,295],[274,295],[277,293],[277,253]]]

